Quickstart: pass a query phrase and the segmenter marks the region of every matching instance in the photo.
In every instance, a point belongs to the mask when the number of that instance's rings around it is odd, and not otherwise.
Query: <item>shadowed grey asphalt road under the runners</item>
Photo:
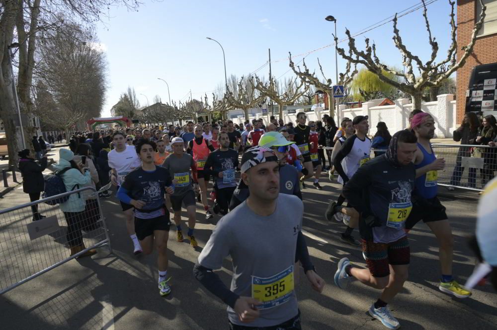
[[[348,290],[343,291],[333,283],[340,258],[347,256],[362,266],[364,261],[359,249],[339,241],[338,234],[344,225],[328,223],[323,218],[328,201],[337,197],[339,186],[331,184],[325,176],[321,181],[323,191],[304,190],[303,230],[313,262],[327,285],[324,292],[318,294],[302,273],[297,297],[303,329],[386,329],[366,312],[376,300],[377,290],[352,282]],[[440,192],[453,226],[454,273],[459,282],[464,283],[474,266],[465,236],[474,231],[478,196],[447,194],[443,188]],[[27,201],[27,195],[18,187],[0,200],[0,209]],[[206,221],[197,203],[197,250],[193,250],[187,240],[176,242],[176,233],[171,229],[168,247],[172,292],[163,298],[157,289],[156,255],[134,257],[124,216],[116,200],[109,198],[101,202],[112,253],[101,248],[91,259],[72,260],[0,296],[0,329],[227,329],[225,305],[192,276],[193,264],[219,217]],[[16,225],[21,230],[22,221],[28,223],[29,216],[24,220],[19,216],[20,223]],[[183,226],[185,222],[183,218]],[[438,291],[438,249],[434,235],[427,226],[419,224],[410,232],[409,239],[412,251],[409,281],[391,304],[402,329],[497,329],[497,295],[493,288],[488,284],[477,287],[473,296],[464,300]],[[34,262],[44,254],[54,254],[54,249],[58,249],[58,253],[65,251],[62,243],[50,243],[46,248],[37,247],[35,256],[20,251],[17,258]],[[1,249],[0,256],[6,247],[2,245]],[[2,263],[0,283],[8,276],[6,268]],[[230,270],[231,263],[226,260],[219,271],[226,283],[231,279]]]

